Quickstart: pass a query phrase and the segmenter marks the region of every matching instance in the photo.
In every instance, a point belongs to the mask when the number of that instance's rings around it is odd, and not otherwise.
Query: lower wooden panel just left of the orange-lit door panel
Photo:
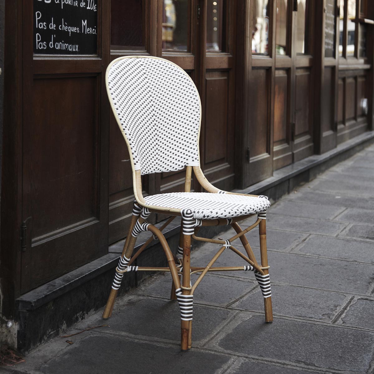
[[[273,174],[270,157],[270,69],[252,69],[248,86],[249,178],[257,183]]]

